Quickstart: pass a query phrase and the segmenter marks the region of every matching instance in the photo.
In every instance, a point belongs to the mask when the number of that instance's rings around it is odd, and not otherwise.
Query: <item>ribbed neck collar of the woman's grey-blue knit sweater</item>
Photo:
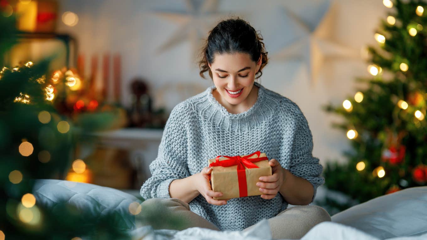
[[[212,95],[212,91],[213,89],[215,89],[215,85],[210,86],[206,89],[207,95],[208,95],[208,100],[211,103],[211,105],[218,109],[219,111],[221,111],[221,113],[225,116],[225,117],[229,117],[229,118],[234,118],[234,119],[240,119],[240,118],[244,118],[246,116],[249,116],[250,114],[252,114],[253,112],[257,111],[257,109],[259,108],[263,96],[264,96],[264,86],[261,85],[258,82],[254,82],[254,85],[256,85],[259,89],[258,89],[258,97],[257,97],[257,101],[254,103],[254,105],[252,105],[251,108],[249,108],[248,110],[238,113],[238,114],[232,114],[230,112],[227,111],[227,109],[221,105],[221,103],[219,103],[215,97],[213,97]]]

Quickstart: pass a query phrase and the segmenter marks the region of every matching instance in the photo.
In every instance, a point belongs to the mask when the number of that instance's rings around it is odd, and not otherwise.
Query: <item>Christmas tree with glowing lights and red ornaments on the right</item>
[[[334,128],[346,132],[351,150],[345,164],[326,164],[328,189],[366,202],[388,193],[427,183],[427,17],[424,0],[383,0],[389,8],[366,48],[369,78],[342,105],[322,106],[342,116]],[[326,198],[330,212],[351,203]]]

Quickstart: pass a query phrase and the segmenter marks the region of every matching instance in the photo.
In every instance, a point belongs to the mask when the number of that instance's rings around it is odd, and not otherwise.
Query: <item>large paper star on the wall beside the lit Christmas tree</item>
[[[273,54],[270,59],[289,60],[300,59],[307,65],[310,82],[316,83],[322,69],[325,58],[331,57],[354,57],[359,58],[359,51],[330,40],[328,35],[333,30],[333,14],[329,3],[326,9],[319,8],[318,11],[325,11],[317,26],[310,26],[298,15],[290,11],[286,6],[281,6],[284,13],[290,17],[291,23],[301,30],[301,35],[290,45],[284,47],[278,53]]]

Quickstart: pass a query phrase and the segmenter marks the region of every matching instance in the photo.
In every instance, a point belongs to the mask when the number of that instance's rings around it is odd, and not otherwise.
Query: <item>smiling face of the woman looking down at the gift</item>
[[[243,102],[249,96],[260,66],[261,58],[254,62],[249,54],[243,53],[216,54],[213,63],[209,64],[216,90],[222,99],[232,105]]]

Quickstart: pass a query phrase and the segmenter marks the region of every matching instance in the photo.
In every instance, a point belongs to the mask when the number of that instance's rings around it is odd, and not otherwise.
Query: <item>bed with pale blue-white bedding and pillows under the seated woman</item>
[[[135,215],[129,213],[132,202],[141,202],[129,193],[95,184],[64,180],[38,179],[33,194],[38,204],[47,209],[69,202],[91,217],[111,212],[120,213],[117,228],[127,231],[132,239],[271,239],[267,220],[257,222],[252,231],[214,231],[187,228],[181,231],[138,226]],[[427,239],[427,186],[410,187],[379,196],[331,216],[331,222],[314,226],[302,240],[352,239]]]

